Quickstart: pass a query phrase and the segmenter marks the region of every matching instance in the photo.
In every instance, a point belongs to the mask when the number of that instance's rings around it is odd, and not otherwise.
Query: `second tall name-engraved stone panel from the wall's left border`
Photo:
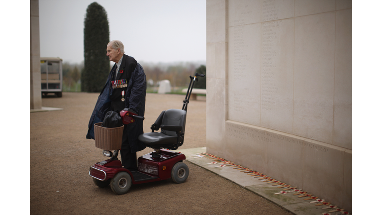
[[[293,19],[261,24],[261,126],[292,132]]]

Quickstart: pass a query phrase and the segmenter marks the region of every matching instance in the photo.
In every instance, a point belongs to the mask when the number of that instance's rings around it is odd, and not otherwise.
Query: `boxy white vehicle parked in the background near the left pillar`
[[[62,97],[62,59],[41,57],[41,94]]]

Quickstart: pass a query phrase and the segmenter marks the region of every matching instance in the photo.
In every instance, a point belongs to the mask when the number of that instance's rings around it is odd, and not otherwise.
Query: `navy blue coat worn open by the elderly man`
[[[126,59],[130,58],[127,55],[123,55],[121,68],[127,72],[128,65],[126,65]],[[114,67],[111,69],[109,76],[107,78],[106,84],[103,87],[101,93],[98,96],[97,102],[95,103],[95,108],[93,110],[92,116],[89,120],[89,130],[86,135],[87,139],[94,139],[94,124],[97,122],[102,122],[103,118],[107,111],[110,110],[111,99],[113,88],[111,85],[111,80],[113,80],[112,71]],[[138,115],[144,116],[145,114],[145,103],[146,103],[146,75],[143,71],[142,66],[137,63],[134,71],[131,73],[130,80],[128,82],[128,87],[126,91],[125,97],[125,108],[133,109]],[[138,140],[138,136],[143,133],[143,121],[135,120],[135,122],[125,125],[127,126],[128,132],[128,141],[130,145],[131,152],[141,151],[146,146],[144,143]]]

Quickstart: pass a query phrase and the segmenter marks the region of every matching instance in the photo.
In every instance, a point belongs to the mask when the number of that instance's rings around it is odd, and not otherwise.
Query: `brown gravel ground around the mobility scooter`
[[[30,214],[32,215],[290,215],[275,204],[207,170],[185,163],[183,184],[164,180],[132,185],[125,195],[98,188],[88,171],[105,159],[94,140],[86,139],[98,93],[63,93],[42,99],[57,111],[30,113]],[[162,110],[182,108],[184,96],[147,94],[145,132]],[[203,101],[204,100],[204,101]],[[205,146],[205,97],[191,101],[182,148]],[[137,153],[151,152],[146,148]]]

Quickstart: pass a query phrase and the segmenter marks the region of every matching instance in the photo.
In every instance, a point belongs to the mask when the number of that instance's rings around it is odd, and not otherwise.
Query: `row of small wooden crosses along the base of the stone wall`
[[[326,207],[322,208],[323,210],[332,209],[328,213],[322,213],[322,215],[331,215],[330,213],[335,213],[335,212],[341,212],[341,214],[349,215],[349,213],[346,212],[345,210],[340,209],[337,206],[331,205],[329,202],[325,202],[325,200],[323,200],[323,199],[319,199],[318,197],[314,197],[313,195],[308,194],[307,192],[304,192],[302,190],[298,190],[297,188],[292,187],[290,185],[287,185],[286,183],[283,183],[283,182],[280,182],[276,179],[268,177],[267,175],[265,175],[263,173],[254,171],[254,170],[246,168],[246,167],[243,167],[239,164],[233,163],[233,162],[228,161],[224,158],[220,158],[216,155],[208,154],[205,152],[200,152],[200,153],[197,153],[196,155],[193,155],[191,157],[208,158],[208,159],[211,159],[212,162],[207,163],[207,164],[217,164],[218,166],[215,166],[216,168],[217,167],[231,167],[233,169],[240,170],[240,172],[246,173],[247,175],[249,175],[251,177],[253,176],[254,178],[258,178],[259,180],[263,180],[263,182],[266,182],[267,184],[273,184],[272,186],[279,186],[277,188],[285,188],[285,189],[283,189],[283,191],[281,191],[279,193],[275,193],[275,195],[294,193],[293,194],[294,196],[300,195],[300,196],[298,196],[298,198],[307,197],[304,199],[305,201],[313,200],[310,203],[318,203],[315,206],[326,206]]]

